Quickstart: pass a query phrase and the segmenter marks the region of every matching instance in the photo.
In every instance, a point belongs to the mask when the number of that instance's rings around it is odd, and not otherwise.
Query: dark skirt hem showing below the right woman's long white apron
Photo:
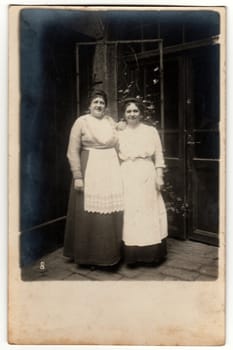
[[[127,246],[124,245],[124,261],[126,264],[162,262],[167,255],[166,238],[159,244],[149,246]]]

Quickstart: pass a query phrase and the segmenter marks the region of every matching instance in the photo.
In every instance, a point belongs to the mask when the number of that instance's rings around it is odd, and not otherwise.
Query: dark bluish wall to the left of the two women
[[[99,35],[94,18],[92,26],[70,11],[21,12],[21,265],[63,243],[71,180],[66,150],[76,118],[75,45]]]

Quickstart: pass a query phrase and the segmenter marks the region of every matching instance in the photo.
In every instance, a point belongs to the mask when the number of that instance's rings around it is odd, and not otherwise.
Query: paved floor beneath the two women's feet
[[[22,269],[25,281],[38,280],[148,280],[211,281],[218,276],[218,248],[193,241],[168,239],[165,262],[156,267],[129,268],[124,263],[115,271],[90,270],[69,262],[62,248]]]

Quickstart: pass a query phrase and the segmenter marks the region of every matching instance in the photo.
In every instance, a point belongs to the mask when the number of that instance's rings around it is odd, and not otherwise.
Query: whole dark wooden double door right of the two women
[[[219,76],[218,45],[164,58],[170,234],[213,245],[219,217]]]

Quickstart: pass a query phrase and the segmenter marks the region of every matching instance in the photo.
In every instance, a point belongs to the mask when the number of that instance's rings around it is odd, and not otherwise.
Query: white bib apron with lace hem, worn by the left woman
[[[84,179],[84,210],[110,214],[123,210],[123,185],[115,148],[114,129],[107,119],[91,118],[88,132],[100,148],[89,150]]]

